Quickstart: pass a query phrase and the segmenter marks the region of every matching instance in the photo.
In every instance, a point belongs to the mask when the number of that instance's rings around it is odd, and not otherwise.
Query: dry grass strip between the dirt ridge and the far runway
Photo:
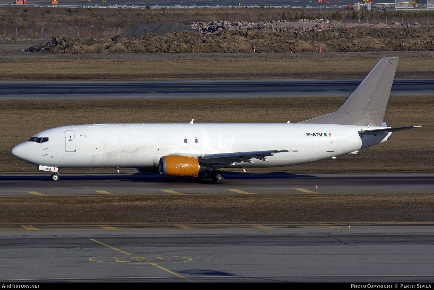
[[[388,52],[387,55],[402,54],[395,78],[434,77],[434,58],[429,53]],[[152,57],[125,54],[105,59],[105,55],[95,54],[11,53],[2,58],[0,78],[3,81],[364,78],[381,57],[349,52],[345,55],[182,54],[181,58],[168,54]]]

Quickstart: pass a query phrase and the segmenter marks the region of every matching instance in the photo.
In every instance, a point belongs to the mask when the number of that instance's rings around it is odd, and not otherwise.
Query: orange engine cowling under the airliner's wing
[[[201,165],[196,157],[169,155],[160,158],[158,169],[164,176],[197,176]]]

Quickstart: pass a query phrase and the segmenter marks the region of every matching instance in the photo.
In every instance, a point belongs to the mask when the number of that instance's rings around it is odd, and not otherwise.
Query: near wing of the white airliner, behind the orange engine
[[[235,164],[241,162],[255,163],[252,159],[263,160],[270,162],[265,157],[273,156],[276,153],[281,152],[298,152],[298,150],[268,150],[268,151],[249,151],[249,152],[231,152],[231,153],[217,153],[217,154],[205,154],[197,156],[199,161],[210,165],[225,165]]]

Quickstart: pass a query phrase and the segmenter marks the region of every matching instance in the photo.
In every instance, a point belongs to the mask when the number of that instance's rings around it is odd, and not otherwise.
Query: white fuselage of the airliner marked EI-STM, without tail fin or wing
[[[381,127],[336,124],[87,124],[57,127],[33,135],[14,156],[59,168],[133,168],[155,171],[161,156],[261,150],[296,150],[265,160],[224,167],[277,167],[309,163],[387,140],[390,133],[359,134]],[[158,169],[157,169],[158,171]]]

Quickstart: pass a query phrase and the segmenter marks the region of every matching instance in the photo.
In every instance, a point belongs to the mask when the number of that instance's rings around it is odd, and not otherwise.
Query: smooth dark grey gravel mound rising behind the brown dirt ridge
[[[190,28],[189,26],[177,22],[141,23],[131,27],[122,33],[122,35],[126,37],[137,37],[144,36],[148,33],[154,33],[162,36],[166,33],[182,32],[186,30],[194,31],[194,29]]]

